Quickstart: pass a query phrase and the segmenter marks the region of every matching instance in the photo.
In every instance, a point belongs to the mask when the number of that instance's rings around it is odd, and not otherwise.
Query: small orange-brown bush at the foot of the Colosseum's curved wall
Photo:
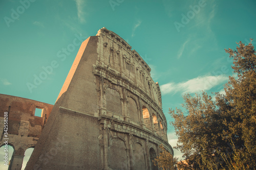
[[[176,169],[178,158],[173,158],[173,155],[166,151],[162,144],[159,145],[159,148],[161,148],[162,151],[160,152],[160,156],[157,156],[155,160],[153,160],[154,165],[158,165],[158,167],[161,167],[163,170]]]

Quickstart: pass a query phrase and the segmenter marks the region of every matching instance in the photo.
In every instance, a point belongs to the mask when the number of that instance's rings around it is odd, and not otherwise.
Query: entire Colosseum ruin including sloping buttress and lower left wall
[[[159,84],[131,48],[105,28],[83,41],[54,106],[1,94],[0,126],[8,112],[14,148],[9,169],[21,169],[31,147],[27,170],[158,169],[160,144],[173,155]]]

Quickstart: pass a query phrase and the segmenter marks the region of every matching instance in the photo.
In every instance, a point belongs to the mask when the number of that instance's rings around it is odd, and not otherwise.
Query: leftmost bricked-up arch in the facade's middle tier
[[[122,116],[121,95],[117,89],[107,88],[105,90],[106,110],[113,114]]]

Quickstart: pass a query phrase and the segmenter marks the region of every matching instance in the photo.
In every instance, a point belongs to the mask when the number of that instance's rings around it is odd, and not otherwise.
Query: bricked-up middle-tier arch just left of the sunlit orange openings
[[[134,122],[139,123],[138,104],[132,96],[127,97],[127,112]]]

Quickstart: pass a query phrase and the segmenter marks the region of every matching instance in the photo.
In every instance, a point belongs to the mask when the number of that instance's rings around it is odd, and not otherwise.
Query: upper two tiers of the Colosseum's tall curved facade
[[[118,116],[121,120],[140,126],[145,122],[142,116],[142,104],[145,103],[151,108],[151,112],[156,112],[158,117],[162,117],[162,124],[167,125],[162,112],[160,87],[151,78],[151,68],[135,50],[131,50],[132,47],[125,40],[114,32],[102,28],[96,36],[99,36],[97,44],[98,58],[93,70],[94,75],[97,76],[99,115]],[[122,101],[120,104],[122,114],[115,114],[115,112],[108,110],[108,106],[106,106],[108,104],[104,97],[101,99],[108,88],[112,88],[116,90],[116,93],[119,93]],[[102,94],[101,91],[103,91]],[[127,104],[123,101],[127,101]],[[133,108],[138,108],[138,110],[131,111],[129,105],[135,106]],[[132,113],[136,113],[138,116],[131,115]],[[145,126],[150,129],[150,125]],[[163,136],[167,139],[166,135]]]

